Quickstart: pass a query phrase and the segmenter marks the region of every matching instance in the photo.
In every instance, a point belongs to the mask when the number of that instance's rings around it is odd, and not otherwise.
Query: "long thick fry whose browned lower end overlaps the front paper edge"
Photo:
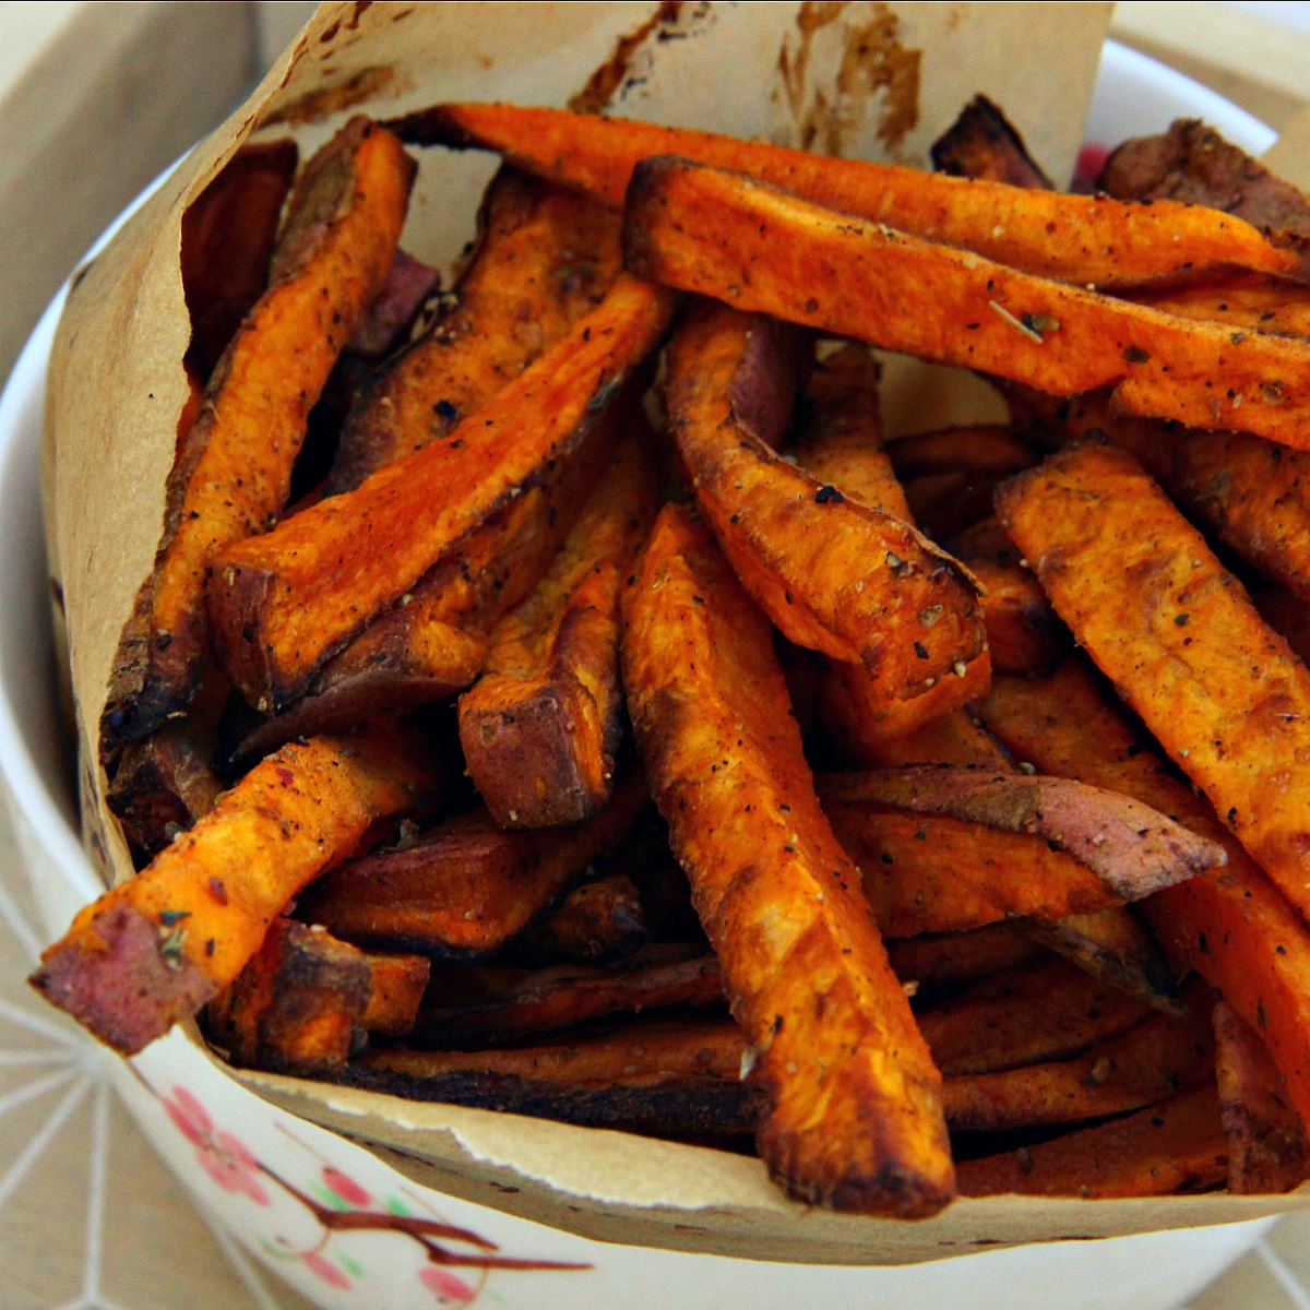
[[[673,506],[629,596],[624,681],[756,1055],[770,1172],[838,1209],[939,1210],[952,1192],[939,1074],[819,808],[768,621]]]

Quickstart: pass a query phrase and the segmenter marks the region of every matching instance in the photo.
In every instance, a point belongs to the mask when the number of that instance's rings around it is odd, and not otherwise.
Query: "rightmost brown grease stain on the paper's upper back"
[[[836,68],[828,73],[833,38]],[[819,59],[823,72],[815,68]],[[778,51],[781,98],[791,114],[795,144],[845,155],[874,113],[874,134],[896,156],[918,123],[921,64],[922,52],[901,42],[900,18],[880,0],[804,0],[795,34]]]

